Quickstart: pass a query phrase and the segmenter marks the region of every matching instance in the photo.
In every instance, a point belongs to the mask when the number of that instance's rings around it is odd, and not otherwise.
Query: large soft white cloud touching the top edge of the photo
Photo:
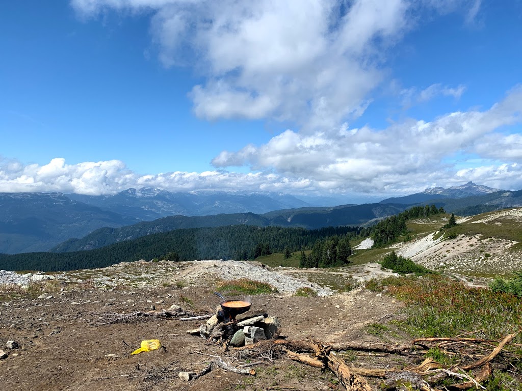
[[[84,17],[152,13],[164,66],[205,78],[189,96],[201,118],[292,121],[330,129],[360,116],[385,77],[386,50],[418,21],[414,11],[469,10],[480,2],[408,0],[72,0]],[[478,4],[478,5],[477,5]],[[434,87],[460,95],[461,88]],[[424,98],[425,99],[425,98]]]

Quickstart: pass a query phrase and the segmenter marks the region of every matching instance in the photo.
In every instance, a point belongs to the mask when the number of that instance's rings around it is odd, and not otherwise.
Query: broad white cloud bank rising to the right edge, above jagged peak
[[[212,164],[220,168],[271,168],[289,177],[310,178],[325,188],[384,191],[394,186],[425,184],[429,177],[438,177],[438,183],[444,177],[449,180],[456,175],[456,169],[444,162],[456,154],[478,154],[484,160],[516,163],[522,158],[522,138],[503,135],[499,128],[520,123],[519,86],[487,111],[455,112],[431,122],[411,119],[383,130],[349,129],[347,125],[337,132],[303,134],[287,130],[264,145],[223,151]],[[512,166],[512,172],[519,170],[519,165]],[[483,182],[488,180],[485,173],[492,171],[471,172],[481,176]],[[499,173],[495,178],[502,170]]]

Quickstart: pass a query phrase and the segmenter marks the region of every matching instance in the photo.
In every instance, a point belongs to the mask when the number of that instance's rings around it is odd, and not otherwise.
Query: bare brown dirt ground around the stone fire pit
[[[4,296],[0,299],[0,349],[9,357],[0,360],[2,390],[341,389],[330,372],[286,357],[253,366],[256,376],[214,369],[194,381],[183,382],[177,376],[180,371],[197,372],[212,360],[199,353],[219,355],[234,365],[240,363],[233,361],[233,353],[222,346],[206,345],[205,339],[186,333],[201,321],[147,319],[106,326],[82,321],[89,312],[129,313],[147,311],[152,306],[169,308],[171,304],[183,308],[192,304],[196,312],[210,313],[218,302],[211,289],[197,287],[75,287],[41,298]],[[329,297],[259,295],[253,296],[252,302],[250,313],[266,312],[281,319],[281,335],[291,339],[314,336],[327,343],[379,340],[367,332],[367,327],[389,321],[399,310],[393,298],[364,288]],[[393,335],[386,338],[404,340],[399,334]],[[130,355],[141,340],[152,338],[159,339],[164,348]],[[5,349],[8,340],[15,340],[20,347]],[[375,361],[363,353],[350,353],[346,358],[369,368],[397,365],[389,361],[397,358],[387,360],[384,356]]]

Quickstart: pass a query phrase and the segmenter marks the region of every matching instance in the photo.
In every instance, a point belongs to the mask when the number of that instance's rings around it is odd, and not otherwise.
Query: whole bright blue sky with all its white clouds
[[[19,0],[0,36],[0,191],[522,188],[519,0]]]

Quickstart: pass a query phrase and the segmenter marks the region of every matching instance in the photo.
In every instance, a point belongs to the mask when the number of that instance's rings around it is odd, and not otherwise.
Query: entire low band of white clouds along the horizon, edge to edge
[[[372,193],[383,197],[473,180],[522,188],[522,86],[485,111],[455,112],[432,121],[410,119],[386,129],[334,132],[287,130],[266,144],[223,151],[203,173],[138,175],[121,161],[45,165],[0,160],[0,191],[111,194],[129,187],[171,191],[263,190],[299,193]],[[455,156],[459,161],[455,163]],[[251,173],[227,168],[250,166]],[[465,167],[465,168],[462,168]]]

